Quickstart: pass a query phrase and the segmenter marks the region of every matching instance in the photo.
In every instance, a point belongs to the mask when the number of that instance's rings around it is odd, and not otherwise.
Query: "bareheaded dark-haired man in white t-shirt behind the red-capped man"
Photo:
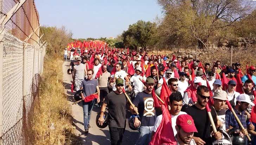
[[[169,96],[169,112],[171,114],[171,120],[172,120],[172,129],[173,129],[173,133],[174,133],[174,136],[177,134],[177,131],[175,129],[175,125],[176,125],[176,119],[179,115],[181,114],[187,114],[186,112],[183,112],[183,111],[180,111],[181,108],[182,108],[182,96],[180,94],[180,92],[175,92],[175,93],[172,93],[170,96]],[[158,129],[158,126],[160,125],[162,121],[162,115],[159,115],[158,117],[156,117],[156,120],[155,120],[155,125],[154,125],[154,128],[153,128],[153,134],[156,132],[156,130]],[[152,136],[153,136],[152,134]]]

